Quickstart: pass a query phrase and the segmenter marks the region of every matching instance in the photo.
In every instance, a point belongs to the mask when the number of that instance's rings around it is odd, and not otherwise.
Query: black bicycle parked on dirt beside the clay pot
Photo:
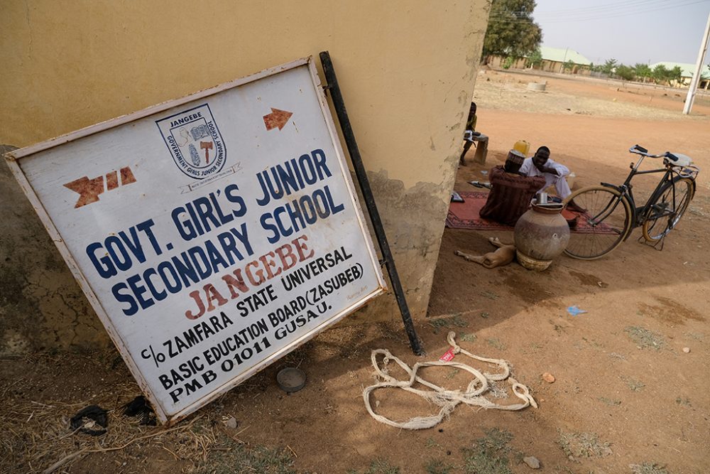
[[[572,232],[564,253],[576,259],[594,260],[616,249],[637,227],[642,227],[646,243],[663,245],[664,237],[674,229],[695,194],[695,178],[700,169],[692,158],[666,151],[652,155],[643,146],[634,145],[629,153],[640,156],[631,163],[631,171],[622,185],[600,183],[575,191],[565,204],[574,200],[584,209],[577,218],[577,232]],[[639,171],[644,158],[663,158],[663,168]],[[643,206],[633,198],[634,176],[663,173],[655,190]]]

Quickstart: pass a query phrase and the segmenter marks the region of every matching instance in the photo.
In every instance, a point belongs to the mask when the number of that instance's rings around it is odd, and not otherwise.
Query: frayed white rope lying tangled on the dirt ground
[[[365,406],[367,408],[368,413],[377,421],[380,421],[384,424],[388,424],[390,426],[395,426],[395,428],[426,429],[432,428],[433,426],[437,426],[437,424],[441,423],[444,420],[444,417],[449,416],[449,414],[454,410],[454,408],[456,408],[459,403],[479,406],[485,409],[498,410],[520,410],[530,405],[537,408],[537,403],[535,402],[535,399],[532,398],[532,395],[530,395],[530,390],[528,389],[528,387],[525,387],[525,385],[518,383],[517,380],[513,379],[513,377],[510,377],[510,364],[508,362],[502,359],[488,359],[486,357],[479,357],[477,355],[471,354],[471,352],[468,352],[467,350],[461,349],[461,347],[459,347],[459,345],[456,343],[456,334],[454,332],[450,332],[447,335],[447,342],[449,343],[449,345],[452,346],[454,354],[464,354],[468,357],[471,357],[471,359],[480,360],[481,362],[487,362],[493,365],[498,365],[498,367],[501,367],[502,372],[498,374],[489,374],[488,372],[481,373],[478,370],[474,369],[474,367],[463,364],[461,362],[444,362],[442,360],[437,360],[435,362],[417,362],[414,367],[410,368],[398,357],[392,355],[388,350],[376,349],[373,350],[371,353],[371,360],[373,367],[375,367],[376,375],[382,380],[382,382],[371,385],[370,387],[364,389],[364,391],[362,392],[362,397],[365,400]],[[383,356],[383,368],[381,368],[377,362],[378,355]],[[405,372],[408,373],[409,379],[398,380],[388,375],[386,365],[388,365],[389,362],[395,362],[397,365],[399,365]],[[461,390],[447,390],[442,387],[439,387],[436,384],[432,384],[431,382],[428,382],[427,380],[422,379],[422,377],[417,375],[417,371],[421,367],[432,366],[447,366],[454,367],[460,370],[465,370],[466,372],[471,373],[471,375],[474,376],[474,379],[471,380],[464,392],[461,392]],[[490,400],[486,399],[486,397],[484,397],[484,394],[488,392],[488,382],[505,379],[508,379],[508,383],[510,383],[515,397],[518,397],[519,399],[523,400],[523,403],[500,405],[493,403]],[[432,389],[432,391],[413,388],[415,382],[422,384],[425,387],[429,387],[430,389]],[[439,406],[439,413],[432,416],[415,416],[413,418],[408,419],[407,421],[393,421],[391,419],[386,418],[385,416],[376,414],[373,411],[370,403],[370,394],[378,389],[386,389],[393,387],[403,389],[413,394],[417,394],[423,399],[427,400],[427,402],[431,402]]]

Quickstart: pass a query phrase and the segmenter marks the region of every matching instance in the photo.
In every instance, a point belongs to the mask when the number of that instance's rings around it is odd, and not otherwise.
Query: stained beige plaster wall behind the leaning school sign
[[[423,317],[489,4],[6,0],[0,143],[27,146],[329,50],[408,302]],[[3,199],[18,204],[0,207],[9,222],[0,230],[3,273],[14,275],[0,293],[12,288],[19,299],[0,298],[0,338],[104,343],[6,169],[0,178]],[[37,271],[53,272],[57,283],[40,290]],[[71,310],[67,298],[76,302]],[[393,296],[356,316],[363,318],[399,318]]]

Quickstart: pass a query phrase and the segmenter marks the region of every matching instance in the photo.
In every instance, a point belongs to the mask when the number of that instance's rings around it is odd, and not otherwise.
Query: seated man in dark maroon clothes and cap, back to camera
[[[479,214],[484,219],[491,219],[505,225],[515,225],[523,213],[530,208],[530,200],[538,189],[545,185],[542,176],[525,176],[520,173],[525,156],[519,151],[510,150],[506,164],[494,166],[488,177],[491,180],[491,193]]]

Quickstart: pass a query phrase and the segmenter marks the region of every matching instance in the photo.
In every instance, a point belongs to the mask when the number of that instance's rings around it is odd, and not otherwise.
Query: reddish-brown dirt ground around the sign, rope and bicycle
[[[527,89],[542,80],[545,92]],[[577,175],[574,188],[621,183],[634,144],[685,153],[704,171],[662,251],[637,242],[635,230],[593,262],[559,257],[542,273],[515,263],[487,270],[454,251],[483,254],[492,249],[488,237],[512,242],[511,232],[444,230],[429,317],[417,322],[427,357],[412,354],[400,325],[336,328],[172,431],[121,414],[139,391],[115,350],[6,358],[0,471],[502,474],[532,471],[523,458],[534,456],[546,473],[710,472],[710,100],[699,97],[687,117],[683,98],[661,87],[486,70],[474,100],[479,129],[490,136],[488,161],[474,165],[471,149],[454,187],[474,190],[466,182],[485,181],[481,171],[503,163],[518,139],[549,146]],[[642,198],[651,181],[638,181]],[[571,316],[573,305],[586,313]],[[371,419],[362,399],[374,383],[371,350],[387,348],[410,365],[436,360],[447,351],[448,330],[462,348],[510,361],[539,408],[457,406],[421,431]],[[454,361],[471,363],[461,355]],[[305,389],[290,395],[275,384],[287,365],[308,376]],[[450,367],[423,373],[452,389],[469,382]],[[509,391],[504,398],[505,387],[491,400],[517,402]],[[393,419],[437,411],[397,389],[376,392],[373,402]],[[67,428],[87,404],[110,410],[104,436]]]

